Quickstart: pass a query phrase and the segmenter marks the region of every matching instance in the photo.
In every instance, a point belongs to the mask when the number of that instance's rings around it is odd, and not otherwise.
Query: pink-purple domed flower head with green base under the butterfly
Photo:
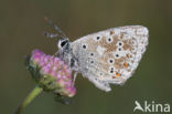
[[[61,59],[34,50],[28,60],[28,69],[44,91],[68,97],[76,94],[72,71]]]

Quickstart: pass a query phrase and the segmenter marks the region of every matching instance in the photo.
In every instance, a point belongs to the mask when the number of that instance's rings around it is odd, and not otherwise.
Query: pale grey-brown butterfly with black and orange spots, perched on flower
[[[51,23],[51,21],[50,21]],[[135,73],[148,45],[149,31],[142,25],[107,29],[79,38],[73,42],[61,33],[58,54],[73,71],[109,92],[110,84],[122,85]],[[45,33],[49,38],[60,34]]]

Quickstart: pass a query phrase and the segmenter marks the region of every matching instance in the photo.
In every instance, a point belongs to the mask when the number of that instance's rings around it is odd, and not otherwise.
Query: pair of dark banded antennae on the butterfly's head
[[[60,34],[53,34],[53,33],[47,33],[47,32],[45,32],[46,34],[46,37],[49,37],[49,38],[55,38],[55,37],[61,37],[61,38],[63,38],[63,39],[66,39],[67,37],[66,37],[66,34],[61,30],[61,28],[58,28],[56,24],[54,24],[53,23],[53,21],[52,20],[50,20],[49,18],[44,18],[44,20],[49,23],[49,24],[51,24],[51,25],[53,25],[53,28],[60,33]],[[49,35],[47,35],[49,34]]]

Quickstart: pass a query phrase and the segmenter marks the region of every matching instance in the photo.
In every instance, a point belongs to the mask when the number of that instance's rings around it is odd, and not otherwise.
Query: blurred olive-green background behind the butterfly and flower
[[[132,114],[136,100],[172,105],[171,0],[0,0],[0,114],[12,114],[35,86],[24,66],[25,55],[33,49],[47,54],[57,50],[55,39],[41,35],[50,30],[44,17],[72,41],[108,28],[142,24],[149,28],[150,42],[123,86],[111,85],[106,93],[79,75],[72,104],[42,93],[23,114]]]

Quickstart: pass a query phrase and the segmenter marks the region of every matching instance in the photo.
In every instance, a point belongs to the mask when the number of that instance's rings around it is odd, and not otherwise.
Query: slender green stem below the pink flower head
[[[21,105],[19,105],[19,107],[17,108],[17,111],[14,112],[14,114],[21,114],[21,112],[25,108],[25,106],[28,104],[30,104],[32,102],[32,100],[34,97],[36,97],[41,92],[43,91],[42,87],[40,87],[39,85],[35,86],[35,89],[32,90],[32,92],[26,96],[26,99],[22,102]]]

